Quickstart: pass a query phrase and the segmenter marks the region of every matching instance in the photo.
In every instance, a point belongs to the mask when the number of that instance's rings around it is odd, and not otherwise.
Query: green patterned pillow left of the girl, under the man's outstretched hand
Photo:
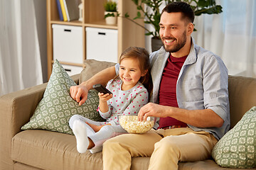
[[[72,115],[78,114],[91,120],[104,121],[97,113],[97,91],[89,91],[87,101],[79,106],[69,94],[70,86],[75,85],[58,60],[55,60],[43,99],[38,103],[30,121],[23,125],[21,130],[42,129],[73,135],[68,125]]]

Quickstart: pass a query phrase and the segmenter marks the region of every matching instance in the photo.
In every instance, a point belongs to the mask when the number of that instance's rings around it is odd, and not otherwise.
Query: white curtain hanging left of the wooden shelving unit
[[[33,0],[0,0],[0,96],[41,83]]]

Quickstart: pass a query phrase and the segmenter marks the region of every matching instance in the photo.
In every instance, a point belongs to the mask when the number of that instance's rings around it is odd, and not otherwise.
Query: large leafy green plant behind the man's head
[[[161,40],[159,37],[159,21],[161,16],[161,11],[159,7],[161,4],[169,4],[173,1],[182,1],[182,0],[132,0],[134,4],[137,6],[138,12],[137,16],[133,19],[129,18],[129,14],[125,13],[124,18],[128,18],[130,21],[136,23],[146,30],[145,35],[151,35],[151,46],[152,51],[158,50],[161,47]],[[213,13],[221,13],[222,7],[220,5],[216,5],[215,0],[183,0],[190,4],[191,8],[195,12],[195,16],[200,16],[203,13],[213,14]],[[146,7],[144,8],[144,4]],[[140,25],[134,20],[139,18],[144,19],[144,23],[149,24],[154,27],[154,31],[147,29],[145,26]],[[195,29],[196,30],[196,29]],[[154,45],[156,43],[156,45]]]

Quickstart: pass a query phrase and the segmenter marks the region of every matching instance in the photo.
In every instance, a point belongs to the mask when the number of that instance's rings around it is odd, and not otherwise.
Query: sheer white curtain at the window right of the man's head
[[[223,13],[196,16],[196,43],[219,55],[230,75],[256,77],[256,1],[221,0]]]

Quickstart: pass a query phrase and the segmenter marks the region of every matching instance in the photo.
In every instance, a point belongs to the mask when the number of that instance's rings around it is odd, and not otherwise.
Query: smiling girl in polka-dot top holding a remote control
[[[102,144],[110,137],[127,133],[119,125],[118,115],[137,115],[139,108],[149,99],[151,90],[149,53],[142,47],[128,47],[119,58],[119,75],[107,83],[112,94],[99,93],[98,110],[106,122],[95,122],[73,115],[70,128],[77,140],[78,152],[100,152]],[[145,88],[146,87],[146,88]]]

